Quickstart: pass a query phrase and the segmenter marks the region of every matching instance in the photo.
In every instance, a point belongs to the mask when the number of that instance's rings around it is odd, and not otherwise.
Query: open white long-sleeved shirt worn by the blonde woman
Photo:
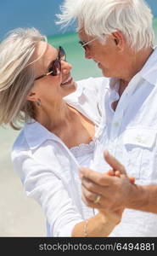
[[[96,126],[100,123],[99,91],[104,78],[78,82],[76,92],[64,100]],[[101,133],[99,126],[93,141]],[[87,155],[87,164],[93,157]],[[93,216],[93,209],[81,201],[79,161],[70,149],[36,121],[26,124],[12,150],[14,170],[20,176],[26,195],[34,198],[45,212],[47,236],[71,236],[75,224]]]

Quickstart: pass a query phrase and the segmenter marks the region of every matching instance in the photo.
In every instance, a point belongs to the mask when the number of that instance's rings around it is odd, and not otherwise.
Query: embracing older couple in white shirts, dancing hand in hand
[[[103,78],[76,83],[64,49],[34,28],[0,44],[0,125],[25,122],[14,169],[42,206],[48,236],[157,236],[151,11],[143,0],[74,2],[64,1],[59,23],[77,21]]]

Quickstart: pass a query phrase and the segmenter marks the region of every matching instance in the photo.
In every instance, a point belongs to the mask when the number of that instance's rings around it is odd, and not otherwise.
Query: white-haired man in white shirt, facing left
[[[85,57],[96,61],[105,77],[102,131],[94,171],[81,169],[82,198],[89,207],[126,207],[110,236],[157,236],[157,48],[151,10],[143,0],[73,2],[64,1],[59,23],[77,20]],[[104,175],[110,166],[121,178]]]

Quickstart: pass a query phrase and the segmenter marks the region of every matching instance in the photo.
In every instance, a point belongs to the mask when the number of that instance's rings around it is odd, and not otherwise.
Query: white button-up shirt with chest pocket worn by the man
[[[111,104],[119,99],[118,88],[115,79],[104,86],[104,131],[91,167],[98,172],[109,170],[103,158],[108,149],[137,184],[157,185],[157,48],[132,78],[114,111]],[[110,236],[157,236],[157,214],[126,209]]]

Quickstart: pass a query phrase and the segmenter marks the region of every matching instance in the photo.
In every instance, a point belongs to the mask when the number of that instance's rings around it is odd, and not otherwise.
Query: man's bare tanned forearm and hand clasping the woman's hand
[[[108,151],[105,151],[104,159],[111,166],[112,172],[121,173],[120,177],[81,167],[82,199],[87,206],[104,208],[105,211],[127,207],[157,213],[157,185],[134,184],[126,175],[124,166]],[[100,200],[94,203],[97,195],[100,195]]]

